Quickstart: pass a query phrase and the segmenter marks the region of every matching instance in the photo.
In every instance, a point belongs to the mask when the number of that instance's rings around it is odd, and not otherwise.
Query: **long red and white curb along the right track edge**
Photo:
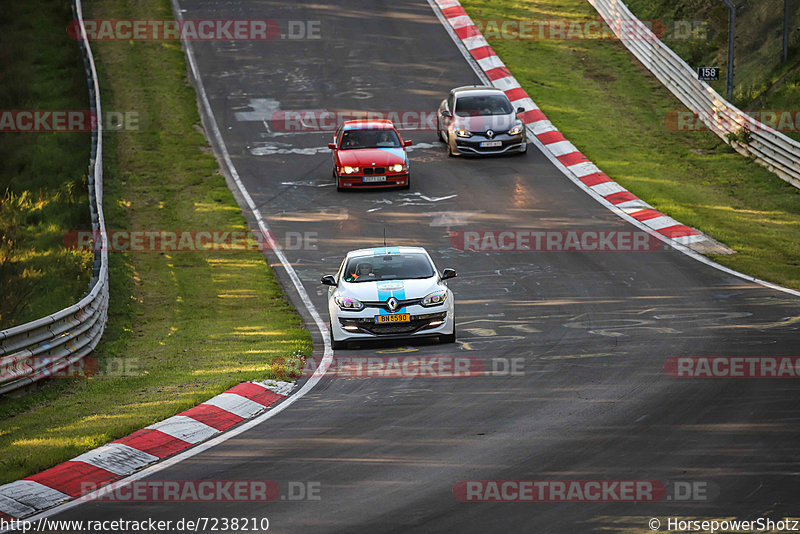
[[[429,0],[429,2],[438,6],[441,16],[452,30],[451,35],[461,41],[469,53],[469,59],[477,64],[489,82],[506,93],[514,108],[524,107],[527,110],[520,113],[519,117],[528,129],[586,188],[645,227],[681,245],[709,241],[694,228],[664,215],[619,185],[575,148],[558,128],[547,120],[544,112],[511,75],[458,0]]]

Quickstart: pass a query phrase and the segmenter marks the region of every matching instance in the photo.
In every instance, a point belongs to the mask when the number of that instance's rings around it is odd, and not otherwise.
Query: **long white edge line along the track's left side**
[[[179,23],[182,23],[183,12],[180,9],[178,0],[171,0],[171,3],[172,3],[172,10],[175,13],[175,18],[178,20]],[[186,50],[186,59],[187,62],[189,63],[189,69],[191,70],[192,75],[197,83],[197,94],[200,98],[202,108],[205,111],[205,113],[202,113],[201,116],[204,115],[206,120],[208,121],[208,127],[211,130],[211,133],[213,135],[214,140],[217,143],[217,146],[219,146],[222,159],[225,162],[225,166],[228,169],[231,179],[236,184],[239,193],[242,195],[242,198],[247,203],[248,208],[250,208],[250,211],[253,213],[253,216],[258,222],[258,226],[263,232],[263,235],[267,236],[267,241],[268,244],[270,245],[271,250],[278,257],[278,261],[280,262],[281,266],[286,270],[286,273],[289,275],[289,278],[291,279],[292,284],[294,285],[298,296],[303,301],[303,305],[306,307],[308,314],[314,320],[314,323],[316,324],[317,329],[319,330],[320,335],[322,336],[322,342],[324,345],[323,356],[322,360],[320,360],[319,366],[314,371],[314,374],[309,377],[308,381],[306,381],[305,384],[303,384],[303,387],[300,388],[300,390],[298,390],[297,393],[295,393],[294,395],[286,397],[280,404],[278,404],[274,408],[267,410],[263,414],[253,419],[250,419],[247,422],[242,423],[241,425],[231,430],[223,432],[204,443],[192,447],[191,449],[187,449],[181,453],[176,454],[175,456],[172,456],[164,460],[163,462],[156,463],[128,477],[123,478],[122,480],[117,482],[117,484],[120,486],[129,484],[135,480],[148,477],[159,471],[163,471],[164,469],[172,467],[182,462],[183,460],[186,460],[202,452],[205,452],[206,450],[216,445],[219,445],[220,443],[224,443],[225,441],[228,441],[229,439],[238,436],[243,432],[247,432],[251,428],[260,425],[264,421],[275,417],[283,410],[285,410],[286,408],[297,402],[298,399],[303,398],[306,393],[311,391],[314,388],[314,386],[316,386],[317,383],[319,383],[320,379],[325,375],[325,372],[328,370],[328,367],[331,364],[331,359],[333,358],[333,349],[331,348],[331,337],[330,337],[330,332],[328,332],[327,326],[323,322],[322,317],[320,316],[319,312],[314,306],[314,303],[311,302],[311,297],[308,296],[308,292],[306,292],[305,288],[303,287],[303,283],[300,281],[300,277],[297,275],[297,272],[294,270],[294,267],[292,267],[291,263],[289,263],[289,260],[286,258],[286,255],[278,247],[278,244],[272,237],[272,232],[270,232],[269,227],[264,222],[264,218],[262,217],[260,210],[256,207],[255,202],[253,202],[253,198],[247,192],[247,189],[245,188],[241,178],[239,177],[239,173],[236,170],[236,167],[234,167],[233,165],[233,161],[231,160],[230,154],[228,153],[228,148],[225,145],[225,141],[222,139],[222,134],[220,133],[219,126],[217,125],[217,121],[214,118],[214,113],[211,109],[211,103],[208,101],[208,95],[206,94],[205,86],[203,85],[203,81],[200,78],[200,72],[197,68],[197,62],[194,59],[194,51],[191,41],[183,40],[183,46],[184,49]],[[83,502],[88,502],[93,499],[96,499],[97,497],[102,496],[102,492],[103,492],[102,488],[93,491],[87,495],[84,495],[80,501],[70,501],[64,503],[60,506],[56,506],[45,512],[37,514],[36,516],[29,518],[29,520],[36,521],[38,519],[49,517],[53,514],[61,513],[74,506],[79,506]]]

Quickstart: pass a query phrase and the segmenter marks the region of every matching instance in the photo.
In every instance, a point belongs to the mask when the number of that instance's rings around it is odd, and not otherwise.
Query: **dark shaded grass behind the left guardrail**
[[[0,109],[86,110],[80,50],[61,0],[9,2],[0,16]],[[0,132],[0,330],[54,313],[86,294],[92,255],[64,247],[91,229],[89,133]]]

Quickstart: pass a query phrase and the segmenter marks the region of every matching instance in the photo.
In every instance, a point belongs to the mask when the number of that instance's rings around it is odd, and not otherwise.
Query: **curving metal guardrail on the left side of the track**
[[[100,341],[108,315],[108,246],[103,216],[103,130],[100,89],[89,39],[83,23],[81,0],[72,9],[80,24],[89,83],[91,109],[97,118],[92,132],[89,161],[89,207],[95,235],[94,265],[89,293],[68,308],[47,317],[0,331],[0,394],[69,370]]]

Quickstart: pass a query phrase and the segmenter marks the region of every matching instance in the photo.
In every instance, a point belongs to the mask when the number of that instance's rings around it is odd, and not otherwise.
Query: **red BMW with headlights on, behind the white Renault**
[[[345,121],[336,130],[333,143],[333,177],[336,190],[366,187],[408,189],[408,155],[397,129],[388,120]]]

